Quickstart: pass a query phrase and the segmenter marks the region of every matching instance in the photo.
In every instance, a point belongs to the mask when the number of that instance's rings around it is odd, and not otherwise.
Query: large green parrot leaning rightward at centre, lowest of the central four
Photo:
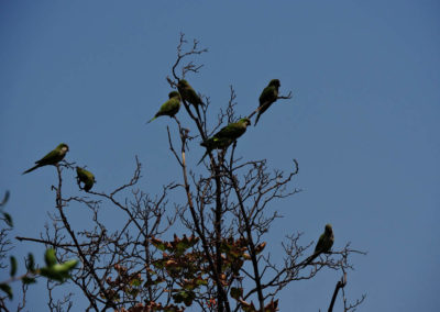
[[[251,124],[251,121],[248,118],[243,118],[238,122],[233,122],[228,124],[227,126],[222,127],[218,133],[216,133],[212,137],[201,142],[200,145],[207,148],[204,157],[201,157],[200,164],[205,157],[211,152],[212,149],[224,149],[229,145],[231,145],[237,138],[243,135],[246,132],[248,125]],[[197,164],[197,165],[198,165]]]

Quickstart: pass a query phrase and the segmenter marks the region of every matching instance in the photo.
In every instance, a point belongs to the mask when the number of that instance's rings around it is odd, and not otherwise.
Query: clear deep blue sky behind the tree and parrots
[[[274,256],[284,235],[305,232],[307,244],[331,223],[336,248],[352,242],[369,252],[349,274],[349,297],[367,294],[359,311],[438,311],[439,16],[438,1],[1,1],[0,191],[11,191],[13,235],[44,231],[55,170],[21,172],[61,142],[67,160],[95,172],[97,190],[127,181],[135,155],[142,189],[154,194],[180,178],[169,120],[145,121],[166,100],[185,32],[209,48],[188,79],[211,97],[212,122],[230,85],[242,115],[273,78],[294,92],[237,151],[271,168],[299,161],[294,185],[304,191],[273,203],[285,216],[267,235]],[[202,153],[195,142],[190,164]],[[77,193],[73,182],[67,190]],[[69,211],[74,223],[84,211]],[[42,259],[42,246],[14,253],[28,250]],[[293,283],[280,311],[327,310],[339,278],[324,271]],[[31,288],[30,311],[46,309],[44,286]],[[86,304],[78,298],[75,311]]]

